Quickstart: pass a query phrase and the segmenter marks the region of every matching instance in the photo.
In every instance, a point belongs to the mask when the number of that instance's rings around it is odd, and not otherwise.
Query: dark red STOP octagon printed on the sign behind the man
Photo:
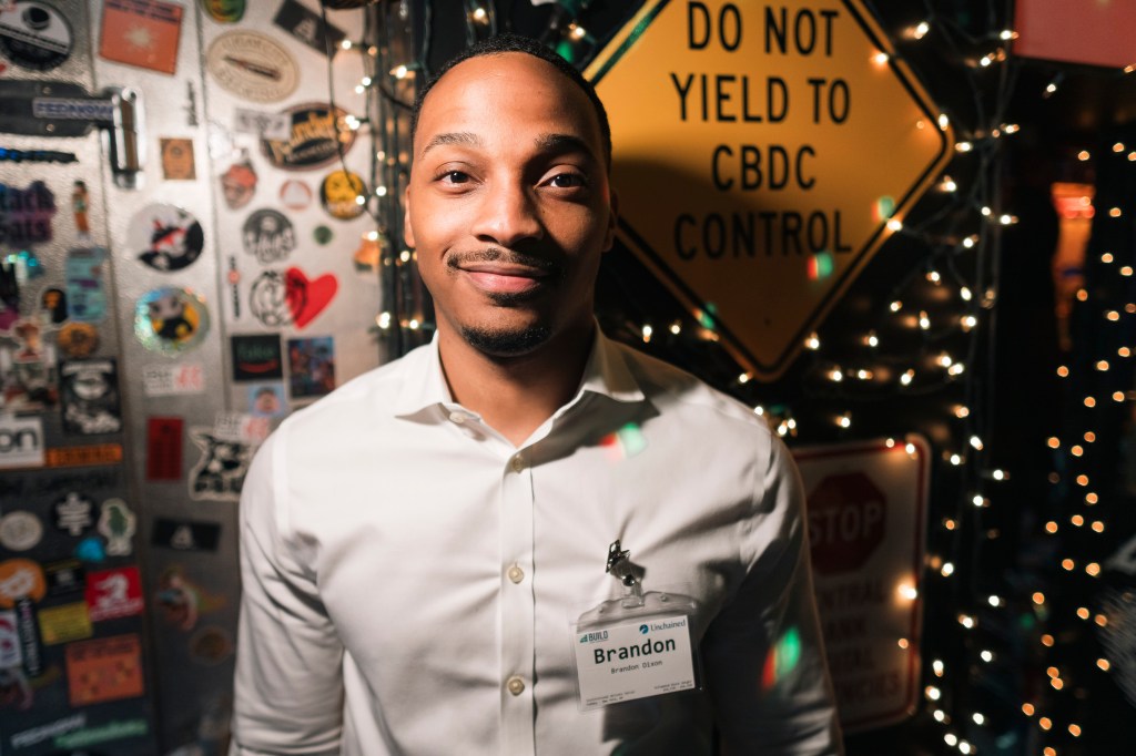
[[[809,494],[809,541],[819,573],[852,572],[884,540],[887,502],[862,472],[828,476]]]

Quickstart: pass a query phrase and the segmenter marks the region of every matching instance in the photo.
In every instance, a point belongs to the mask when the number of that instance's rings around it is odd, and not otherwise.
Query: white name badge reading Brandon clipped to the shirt
[[[690,620],[683,614],[580,631],[574,640],[585,712],[696,687]]]

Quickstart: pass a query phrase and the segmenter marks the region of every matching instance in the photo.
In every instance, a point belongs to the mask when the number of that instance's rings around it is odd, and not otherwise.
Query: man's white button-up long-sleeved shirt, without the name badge
[[[515,447],[456,403],[436,342],[290,417],[241,498],[233,754],[837,754],[801,484],[745,406],[599,334]],[[703,689],[583,713],[571,627],[698,600]]]

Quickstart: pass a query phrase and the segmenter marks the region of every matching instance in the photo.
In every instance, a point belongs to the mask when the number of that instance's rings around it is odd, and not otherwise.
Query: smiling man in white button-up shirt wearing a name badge
[[[616,199],[594,92],[502,36],[418,108],[406,235],[437,335],[291,417],[252,465],[233,753],[688,756],[715,728],[724,753],[838,753],[785,448],[595,326]],[[577,623],[634,576],[695,608]],[[578,690],[577,666],[640,684],[608,664],[609,630],[679,625],[700,660],[653,648],[702,690]]]

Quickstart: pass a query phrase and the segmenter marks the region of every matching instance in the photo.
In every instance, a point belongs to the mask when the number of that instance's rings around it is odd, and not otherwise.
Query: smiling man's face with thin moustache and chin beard
[[[592,104],[550,64],[484,56],[435,84],[406,210],[443,336],[513,356],[591,327],[612,195]]]

